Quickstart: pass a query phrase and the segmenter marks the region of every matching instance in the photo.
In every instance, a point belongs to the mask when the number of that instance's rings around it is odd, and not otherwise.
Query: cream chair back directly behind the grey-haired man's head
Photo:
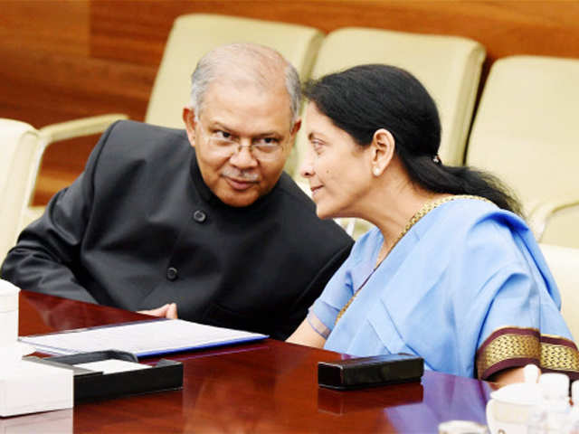
[[[307,79],[323,33],[299,24],[217,14],[179,16],[169,33],[145,121],[182,128],[181,113],[189,101],[191,74],[206,52],[232,42],[254,42],[280,52]]]

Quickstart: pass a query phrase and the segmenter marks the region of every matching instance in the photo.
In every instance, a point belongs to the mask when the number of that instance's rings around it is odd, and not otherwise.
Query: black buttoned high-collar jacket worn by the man
[[[352,240],[283,174],[244,208],[204,184],[184,130],[121,121],[2,266],[16,286],[284,339]]]

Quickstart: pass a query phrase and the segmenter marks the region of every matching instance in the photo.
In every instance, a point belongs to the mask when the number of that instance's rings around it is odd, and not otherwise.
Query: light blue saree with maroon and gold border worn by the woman
[[[442,203],[373,272],[382,242],[376,228],[356,241],[310,308],[326,349],[417,354],[426,369],[481,379],[527,363],[579,374],[555,281],[515,214],[472,198]]]

